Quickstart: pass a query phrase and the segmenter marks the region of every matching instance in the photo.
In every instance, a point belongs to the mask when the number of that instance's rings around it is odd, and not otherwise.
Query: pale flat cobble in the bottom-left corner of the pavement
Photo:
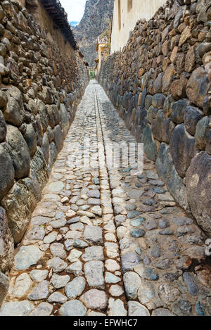
[[[0,310],[0,316],[27,316],[34,310],[34,305],[28,300],[5,303]]]

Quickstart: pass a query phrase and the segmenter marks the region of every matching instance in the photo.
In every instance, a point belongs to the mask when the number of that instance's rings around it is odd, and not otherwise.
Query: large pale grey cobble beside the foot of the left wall
[[[15,255],[15,269],[25,270],[32,265],[36,265],[42,257],[41,250],[36,246],[21,246]]]

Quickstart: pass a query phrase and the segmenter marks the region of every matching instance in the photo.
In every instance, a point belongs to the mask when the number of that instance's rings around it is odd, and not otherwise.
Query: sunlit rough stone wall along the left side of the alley
[[[39,9],[42,23],[20,1],[0,1],[0,303],[14,243],[25,234],[89,82],[82,55],[39,1],[26,4]]]

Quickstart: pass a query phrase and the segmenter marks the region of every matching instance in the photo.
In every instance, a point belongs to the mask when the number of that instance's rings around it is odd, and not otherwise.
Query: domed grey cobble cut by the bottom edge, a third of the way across
[[[60,307],[59,314],[62,316],[86,316],[87,308],[79,300],[71,300]]]

